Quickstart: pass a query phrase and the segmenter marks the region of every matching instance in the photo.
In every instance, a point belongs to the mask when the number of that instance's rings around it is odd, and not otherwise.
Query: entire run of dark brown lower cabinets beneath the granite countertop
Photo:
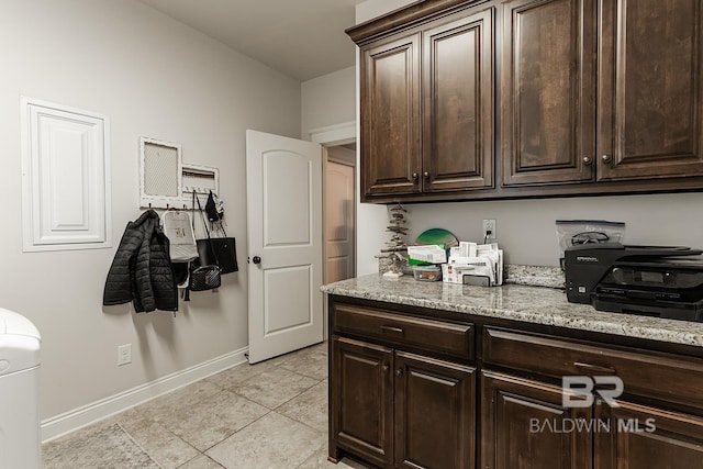
[[[341,297],[330,321],[333,461],[703,469],[700,347]]]

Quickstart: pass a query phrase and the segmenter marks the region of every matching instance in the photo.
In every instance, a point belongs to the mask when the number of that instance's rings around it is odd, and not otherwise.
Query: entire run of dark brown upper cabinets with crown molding
[[[694,0],[422,0],[360,47],[362,201],[703,190]]]

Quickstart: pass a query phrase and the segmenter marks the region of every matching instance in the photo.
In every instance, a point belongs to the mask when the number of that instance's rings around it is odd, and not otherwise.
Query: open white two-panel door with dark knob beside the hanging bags
[[[246,131],[249,362],[323,339],[322,148]]]

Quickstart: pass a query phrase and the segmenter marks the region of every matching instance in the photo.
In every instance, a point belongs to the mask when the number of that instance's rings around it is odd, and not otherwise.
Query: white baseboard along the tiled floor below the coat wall
[[[246,362],[248,347],[146,382],[100,401],[42,421],[42,443],[58,438],[93,422],[126,411],[159,395],[175,391],[220,371]]]

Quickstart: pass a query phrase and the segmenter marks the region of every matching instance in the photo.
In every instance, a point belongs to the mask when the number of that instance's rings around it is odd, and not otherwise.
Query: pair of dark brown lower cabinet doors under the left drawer
[[[331,457],[383,468],[475,467],[475,368],[333,337]]]

